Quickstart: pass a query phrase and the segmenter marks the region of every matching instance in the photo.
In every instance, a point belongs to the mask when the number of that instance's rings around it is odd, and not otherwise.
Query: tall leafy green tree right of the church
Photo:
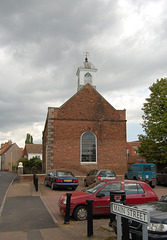
[[[157,80],[149,89],[142,108],[145,135],[139,135],[138,151],[147,162],[167,163],[167,79]]]

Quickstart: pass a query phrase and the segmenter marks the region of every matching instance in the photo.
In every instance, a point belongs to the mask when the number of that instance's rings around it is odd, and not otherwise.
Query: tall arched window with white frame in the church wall
[[[92,132],[85,132],[81,136],[81,162],[97,162],[96,135]]]

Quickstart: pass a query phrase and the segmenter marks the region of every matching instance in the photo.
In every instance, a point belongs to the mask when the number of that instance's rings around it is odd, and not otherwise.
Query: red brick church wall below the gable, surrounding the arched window
[[[119,122],[118,128],[117,122],[109,121],[55,121],[54,168],[81,173],[109,168],[123,174],[127,170],[124,125]],[[92,131],[97,137],[97,164],[80,163],[80,139],[85,131]]]

